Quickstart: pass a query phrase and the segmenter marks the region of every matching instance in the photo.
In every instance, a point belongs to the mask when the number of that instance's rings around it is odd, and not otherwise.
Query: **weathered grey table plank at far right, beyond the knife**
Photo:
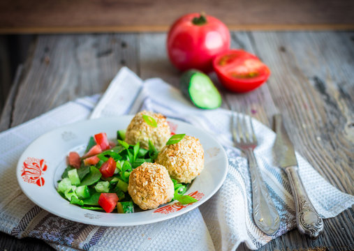
[[[253,32],[250,36],[257,54],[272,70],[268,87],[295,149],[330,183],[353,194],[353,130],[348,127],[353,123],[353,70],[349,70],[353,35]],[[279,241],[293,249],[350,250],[353,236],[353,210],[348,209],[325,220],[325,232],[316,241],[296,230]],[[270,245],[261,250],[271,249]]]

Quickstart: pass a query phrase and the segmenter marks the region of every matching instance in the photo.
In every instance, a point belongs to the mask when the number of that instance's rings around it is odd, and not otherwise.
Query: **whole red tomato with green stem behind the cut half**
[[[215,17],[191,13],[172,24],[167,39],[168,56],[179,70],[195,68],[208,73],[214,56],[230,47],[230,32]]]

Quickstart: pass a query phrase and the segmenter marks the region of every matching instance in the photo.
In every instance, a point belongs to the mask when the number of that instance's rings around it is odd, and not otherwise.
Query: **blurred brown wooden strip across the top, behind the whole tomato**
[[[3,0],[0,32],[166,31],[177,17],[200,11],[231,29],[354,28],[354,2],[346,0]]]

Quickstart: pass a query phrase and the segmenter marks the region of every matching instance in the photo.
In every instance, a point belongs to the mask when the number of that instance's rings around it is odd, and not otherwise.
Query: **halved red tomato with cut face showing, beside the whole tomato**
[[[270,76],[270,69],[257,56],[244,50],[229,50],[215,57],[213,67],[221,84],[235,92],[256,89]]]

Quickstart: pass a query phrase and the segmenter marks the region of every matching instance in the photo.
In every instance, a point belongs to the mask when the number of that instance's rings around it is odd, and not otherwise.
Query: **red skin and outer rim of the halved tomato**
[[[258,59],[257,56],[249,52],[245,52],[244,50],[230,50],[227,53],[237,53],[243,59]],[[222,68],[220,68],[220,66],[218,65],[220,59],[223,56],[223,54],[220,54],[214,58],[213,68],[221,84],[223,84],[223,86],[229,91],[233,91],[236,93],[246,93],[249,91],[253,91],[265,81],[267,81],[268,77],[270,76],[270,69],[264,65],[265,68],[262,71],[263,74],[258,77],[253,77],[251,79],[235,79],[234,77],[230,77],[229,75],[226,75],[225,71],[222,70]]]

